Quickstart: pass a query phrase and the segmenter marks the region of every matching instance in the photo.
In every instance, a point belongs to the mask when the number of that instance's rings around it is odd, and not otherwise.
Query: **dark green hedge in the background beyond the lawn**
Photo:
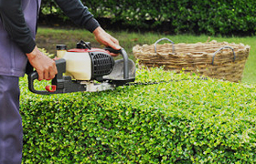
[[[135,29],[210,35],[255,34],[256,1],[252,0],[82,0],[99,20],[122,23]],[[43,0],[42,16],[67,19],[54,0]]]

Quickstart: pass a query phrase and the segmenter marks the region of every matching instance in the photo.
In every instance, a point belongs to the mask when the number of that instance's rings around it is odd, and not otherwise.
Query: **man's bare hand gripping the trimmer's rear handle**
[[[55,61],[40,52],[37,46],[31,53],[27,54],[27,58],[32,67],[36,68],[39,81],[50,80],[58,73]]]

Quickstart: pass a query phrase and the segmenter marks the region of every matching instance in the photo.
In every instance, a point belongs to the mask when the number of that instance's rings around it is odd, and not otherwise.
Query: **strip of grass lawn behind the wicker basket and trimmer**
[[[120,41],[120,45],[124,47],[131,58],[134,59],[132,48],[135,45],[154,44],[155,41],[162,37],[167,37],[175,43],[197,43],[206,42],[208,36],[192,36],[192,35],[177,35],[168,36],[165,34],[155,33],[129,33],[129,32],[109,32],[112,36]],[[45,48],[49,53],[55,53],[55,46],[58,44],[65,44],[68,48],[73,48],[80,39],[91,42],[92,46],[101,47],[93,35],[86,30],[67,30],[39,27],[37,31],[37,45],[40,48]],[[234,42],[236,44],[243,43],[251,46],[250,56],[244,68],[242,78],[243,83],[256,84],[256,36],[210,36],[210,40],[217,40],[218,42]]]

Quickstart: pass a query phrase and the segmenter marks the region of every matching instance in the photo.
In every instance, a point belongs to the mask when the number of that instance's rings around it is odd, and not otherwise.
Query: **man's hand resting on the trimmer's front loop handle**
[[[115,50],[120,50],[119,42],[116,38],[106,33],[101,26],[98,26],[93,32],[95,39],[104,46],[111,46]],[[118,56],[117,54],[111,54],[112,56]]]

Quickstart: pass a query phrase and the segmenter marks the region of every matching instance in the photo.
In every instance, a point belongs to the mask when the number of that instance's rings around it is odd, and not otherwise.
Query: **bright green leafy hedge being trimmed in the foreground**
[[[24,163],[255,163],[256,87],[160,68],[98,93],[39,96],[21,78]],[[41,85],[41,84],[40,84]]]

